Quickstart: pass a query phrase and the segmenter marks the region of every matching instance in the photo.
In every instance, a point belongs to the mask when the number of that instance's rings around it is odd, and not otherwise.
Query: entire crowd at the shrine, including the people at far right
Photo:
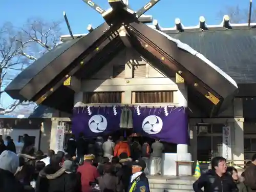
[[[164,150],[156,140],[151,146],[123,137],[114,143],[112,137],[103,142],[73,136],[65,152],[48,155],[35,153],[28,135],[24,135],[22,153],[16,155],[12,139],[7,146],[0,140],[0,192],[150,192],[146,175],[150,157],[161,163]],[[9,146],[8,146],[9,144]],[[14,145],[15,147],[15,145]],[[160,168],[159,168],[160,169]],[[158,168],[156,175],[161,175]],[[215,157],[211,169],[195,181],[195,192],[256,192],[256,154],[247,162],[241,176],[236,168],[227,167],[226,159]]]

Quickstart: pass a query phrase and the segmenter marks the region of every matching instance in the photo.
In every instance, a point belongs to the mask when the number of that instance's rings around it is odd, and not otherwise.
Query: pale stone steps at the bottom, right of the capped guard
[[[151,192],[193,192],[193,176],[147,176]]]

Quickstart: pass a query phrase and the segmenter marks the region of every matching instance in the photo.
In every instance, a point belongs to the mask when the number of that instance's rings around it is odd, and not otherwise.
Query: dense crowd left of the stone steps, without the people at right
[[[161,144],[154,145],[163,150]],[[112,137],[105,142],[98,137],[93,142],[80,134],[77,140],[73,136],[68,140],[65,151],[49,150],[47,156],[35,153],[25,135],[21,154],[5,148],[0,155],[0,178],[4,178],[0,179],[0,192],[150,191],[146,174],[152,150],[146,142],[140,145],[123,137],[116,143]]]

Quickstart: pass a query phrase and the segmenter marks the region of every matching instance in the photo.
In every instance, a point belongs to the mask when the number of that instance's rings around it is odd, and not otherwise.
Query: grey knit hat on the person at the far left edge
[[[0,168],[15,174],[18,166],[19,157],[15,153],[11,151],[4,151],[0,155]]]

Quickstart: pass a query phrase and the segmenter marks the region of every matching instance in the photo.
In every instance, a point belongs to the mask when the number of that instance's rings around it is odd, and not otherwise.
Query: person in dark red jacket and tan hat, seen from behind
[[[90,183],[100,177],[97,167],[93,165],[94,155],[85,155],[84,162],[78,167],[77,172],[81,174],[82,192],[90,192]]]

